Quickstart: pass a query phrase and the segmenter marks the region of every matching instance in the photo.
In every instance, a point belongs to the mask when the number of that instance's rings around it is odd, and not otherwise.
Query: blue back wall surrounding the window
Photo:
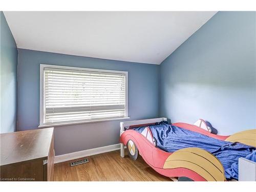
[[[129,116],[158,117],[159,66],[18,49],[18,131],[39,124],[39,64],[128,71]],[[119,143],[119,122],[55,128],[56,155]]]

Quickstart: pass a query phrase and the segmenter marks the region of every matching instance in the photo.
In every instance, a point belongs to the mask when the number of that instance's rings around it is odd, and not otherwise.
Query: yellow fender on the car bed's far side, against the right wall
[[[225,141],[240,142],[246,145],[256,147],[256,129],[235,133],[226,138]]]

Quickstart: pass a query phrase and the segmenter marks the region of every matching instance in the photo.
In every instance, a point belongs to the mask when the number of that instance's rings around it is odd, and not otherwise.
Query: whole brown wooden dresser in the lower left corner
[[[0,181],[52,181],[53,127],[0,134]]]

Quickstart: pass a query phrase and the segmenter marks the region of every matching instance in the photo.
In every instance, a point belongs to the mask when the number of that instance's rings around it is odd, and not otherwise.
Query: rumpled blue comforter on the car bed
[[[134,130],[141,133],[145,126]],[[238,159],[244,157],[256,162],[256,148],[238,142],[211,138],[197,132],[170,125],[166,121],[150,126],[157,147],[166,152],[175,152],[186,147],[200,147],[215,155],[222,163],[228,180],[238,180]]]

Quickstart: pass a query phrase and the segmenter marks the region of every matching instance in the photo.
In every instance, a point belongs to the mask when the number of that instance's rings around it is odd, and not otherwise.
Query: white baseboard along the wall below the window
[[[83,150],[83,151],[64,154],[64,155],[58,155],[54,157],[54,163],[61,163],[61,162],[70,161],[73,159],[88,157],[88,156],[97,155],[97,154],[106,153],[106,152],[112,152],[116,150],[120,150],[120,143],[114,144],[114,145],[102,146],[98,148],[90,148],[90,150]]]

